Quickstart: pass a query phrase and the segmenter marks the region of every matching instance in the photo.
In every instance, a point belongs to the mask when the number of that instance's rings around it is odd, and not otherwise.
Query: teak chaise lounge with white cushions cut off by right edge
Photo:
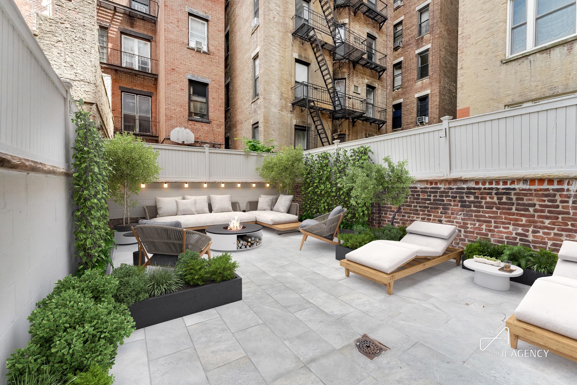
[[[564,241],[552,276],[537,279],[509,317],[509,342],[521,341],[577,362],[577,242]]]

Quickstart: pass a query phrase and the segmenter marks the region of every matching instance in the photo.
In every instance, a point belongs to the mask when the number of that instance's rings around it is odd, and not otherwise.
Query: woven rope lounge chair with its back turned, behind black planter
[[[160,225],[138,225],[131,227],[138,242],[138,266],[155,264],[174,266],[180,253],[197,251],[211,258],[211,237],[194,230]],[[146,259],[143,264],[142,255]]]

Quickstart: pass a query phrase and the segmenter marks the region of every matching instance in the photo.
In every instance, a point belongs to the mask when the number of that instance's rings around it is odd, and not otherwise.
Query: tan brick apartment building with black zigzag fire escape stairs
[[[390,131],[391,5],[234,0],[226,6],[226,147],[314,148]]]

